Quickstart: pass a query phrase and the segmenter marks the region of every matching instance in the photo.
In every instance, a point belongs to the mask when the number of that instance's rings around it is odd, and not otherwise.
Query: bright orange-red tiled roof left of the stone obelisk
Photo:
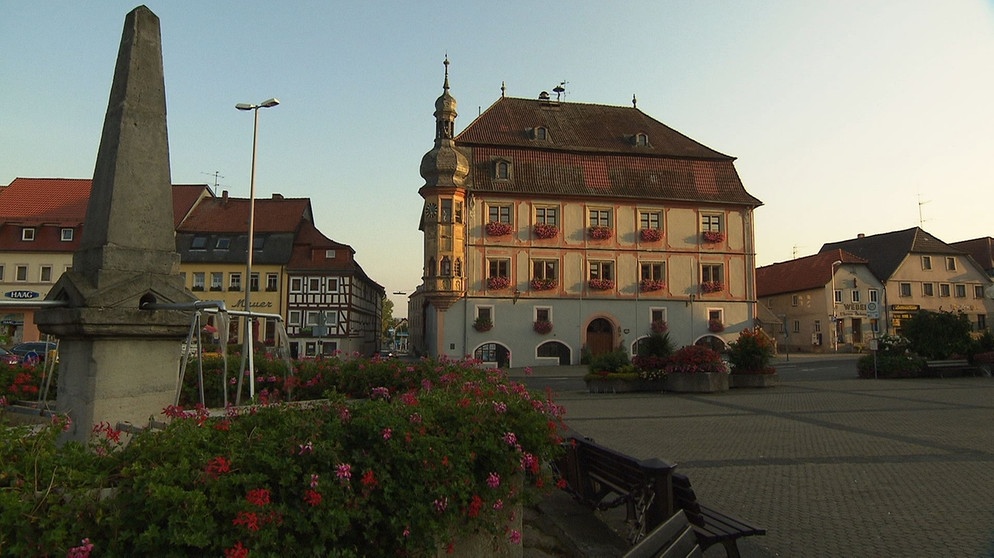
[[[78,226],[90,199],[88,178],[15,178],[0,189],[0,222]]]

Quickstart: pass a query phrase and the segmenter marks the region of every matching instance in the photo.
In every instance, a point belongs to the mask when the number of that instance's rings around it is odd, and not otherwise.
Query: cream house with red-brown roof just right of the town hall
[[[779,317],[777,340],[793,351],[865,346],[886,329],[883,291],[868,262],[844,250],[756,268],[759,305]]]

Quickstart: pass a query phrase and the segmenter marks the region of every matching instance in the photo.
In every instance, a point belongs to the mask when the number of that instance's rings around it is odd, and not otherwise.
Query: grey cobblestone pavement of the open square
[[[744,556],[994,557],[994,379],[861,380],[851,360],[807,378],[792,361],[775,388],[556,399],[572,428],[678,464],[703,502],[766,527]]]

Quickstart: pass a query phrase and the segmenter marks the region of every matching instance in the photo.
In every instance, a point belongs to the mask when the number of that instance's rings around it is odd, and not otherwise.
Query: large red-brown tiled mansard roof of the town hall
[[[550,139],[532,139],[536,127]],[[648,146],[635,145],[638,133]],[[635,108],[502,98],[456,144],[472,151],[477,191],[762,204],[742,186],[733,157]],[[494,177],[498,159],[511,162],[510,179]]]

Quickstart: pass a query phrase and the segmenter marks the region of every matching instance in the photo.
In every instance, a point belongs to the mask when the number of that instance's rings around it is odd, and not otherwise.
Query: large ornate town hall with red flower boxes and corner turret
[[[632,107],[501,97],[421,161],[410,345],[491,366],[629,353],[652,324],[723,346],[755,318],[753,210],[734,158]]]

